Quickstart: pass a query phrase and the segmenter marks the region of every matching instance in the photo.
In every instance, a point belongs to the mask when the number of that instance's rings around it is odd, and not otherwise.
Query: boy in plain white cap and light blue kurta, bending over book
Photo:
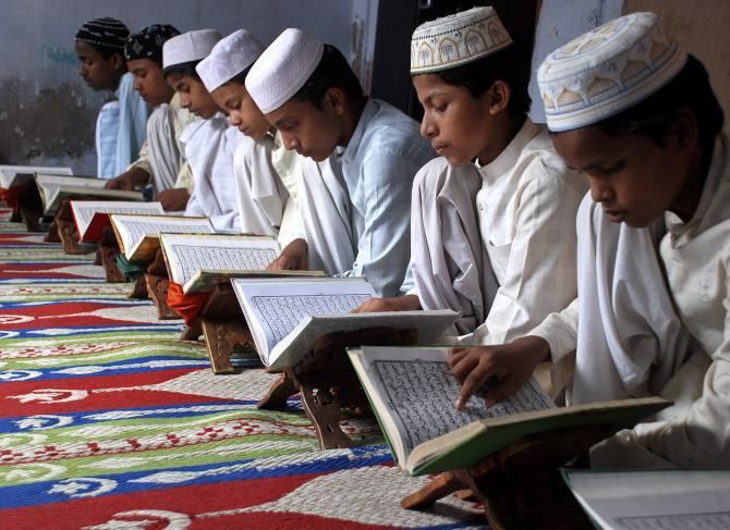
[[[342,53],[301,29],[277,37],[245,86],[288,149],[318,163],[340,155],[342,164],[341,180],[302,178],[305,237],[290,243],[271,268],[319,268],[312,255],[326,251],[330,256],[318,260],[326,272],[364,275],[378,295],[396,295],[410,256],[413,176],[434,157],[417,123],[365,97]]]

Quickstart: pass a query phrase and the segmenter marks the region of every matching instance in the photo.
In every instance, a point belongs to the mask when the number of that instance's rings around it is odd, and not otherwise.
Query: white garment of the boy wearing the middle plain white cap
[[[273,137],[242,141],[235,150],[235,184],[241,232],[279,236],[289,199],[273,163]]]

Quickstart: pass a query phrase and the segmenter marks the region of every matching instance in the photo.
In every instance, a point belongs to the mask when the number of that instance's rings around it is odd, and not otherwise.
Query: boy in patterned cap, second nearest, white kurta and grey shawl
[[[586,187],[526,115],[528,48],[492,8],[414,32],[421,133],[441,158],[413,187],[415,288],[360,311],[453,309],[455,332],[474,333],[463,341],[499,344],[575,297],[574,223]]]

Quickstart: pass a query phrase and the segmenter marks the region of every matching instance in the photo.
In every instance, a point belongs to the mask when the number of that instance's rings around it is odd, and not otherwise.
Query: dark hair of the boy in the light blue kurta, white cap
[[[363,87],[342,52],[331,45],[325,45],[325,52],[317,67],[292,99],[314,104],[323,109],[323,100],[329,88],[341,88],[351,101],[364,99]]]

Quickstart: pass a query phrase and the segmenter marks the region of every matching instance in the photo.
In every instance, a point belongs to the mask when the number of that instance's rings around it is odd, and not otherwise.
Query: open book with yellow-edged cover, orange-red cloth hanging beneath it
[[[183,293],[211,291],[232,278],[323,276],[320,271],[267,271],[279,257],[279,243],[269,236],[160,234],[170,279]]]

